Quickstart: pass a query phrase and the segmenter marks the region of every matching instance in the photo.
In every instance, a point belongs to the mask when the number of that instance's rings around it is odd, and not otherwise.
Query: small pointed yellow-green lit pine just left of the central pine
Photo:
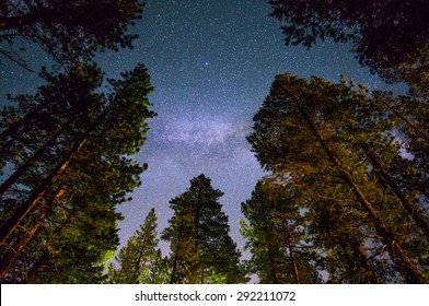
[[[152,266],[160,258],[156,235],[156,215],[152,208],[140,225],[140,229],[135,232],[116,257],[118,268],[109,271],[112,283],[146,284],[156,278],[151,275],[154,271]]]

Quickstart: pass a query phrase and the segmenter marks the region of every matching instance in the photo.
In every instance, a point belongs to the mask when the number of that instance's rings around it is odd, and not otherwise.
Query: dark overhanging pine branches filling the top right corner
[[[428,11],[416,1],[273,0],[286,44],[311,47],[317,38],[351,42],[361,64],[390,81],[406,81],[428,97]]]

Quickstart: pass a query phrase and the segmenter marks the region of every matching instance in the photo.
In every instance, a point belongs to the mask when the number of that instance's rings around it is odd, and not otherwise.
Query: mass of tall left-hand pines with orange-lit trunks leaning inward
[[[5,141],[13,145],[3,160],[14,170],[1,197],[4,282],[101,280],[102,260],[118,244],[121,216],[115,208],[127,201],[147,168],[127,157],[143,144],[146,119],[154,116],[148,108],[152,87],[146,68],[139,64],[121,80],[108,80],[107,94],[95,93],[101,79],[91,72],[93,66],[72,71],[51,75],[35,96],[18,98],[16,111],[5,111],[20,116],[11,122],[19,128],[8,133]],[[20,120],[28,113],[31,119]],[[46,122],[59,122],[61,132],[40,128]],[[27,233],[33,234],[23,238]]]

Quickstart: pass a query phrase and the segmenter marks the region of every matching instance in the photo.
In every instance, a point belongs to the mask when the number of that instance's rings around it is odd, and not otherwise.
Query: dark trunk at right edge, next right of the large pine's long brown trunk
[[[421,228],[425,235],[429,238],[429,222],[425,219],[425,212],[413,201],[410,201],[407,196],[401,190],[401,188],[395,184],[395,181],[385,173],[383,166],[376,160],[376,157],[370,152],[370,150],[363,146],[364,153],[370,160],[372,166],[380,174],[382,179],[389,186],[391,191],[399,199],[403,208],[409,213],[414,222]]]

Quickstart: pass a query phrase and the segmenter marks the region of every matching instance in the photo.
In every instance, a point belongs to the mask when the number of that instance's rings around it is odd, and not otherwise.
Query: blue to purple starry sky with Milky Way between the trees
[[[264,175],[246,136],[277,73],[331,81],[345,74],[370,89],[390,89],[358,64],[348,45],[320,42],[310,50],[285,46],[266,2],[147,0],[142,20],[131,28],[139,35],[135,48],[97,57],[108,78],[144,63],[155,89],[150,101],[158,117],[150,119],[148,140],[135,156],[149,169],[134,200],[119,207],[125,216],[119,223],[121,244],[152,207],[161,232],[172,215],[169,201],[184,192],[193,177],[205,174],[224,192],[220,202],[231,236],[243,247],[240,204]],[[30,51],[31,66],[47,62],[46,55]],[[39,82],[36,73],[1,62],[1,103],[4,93],[31,93]]]

